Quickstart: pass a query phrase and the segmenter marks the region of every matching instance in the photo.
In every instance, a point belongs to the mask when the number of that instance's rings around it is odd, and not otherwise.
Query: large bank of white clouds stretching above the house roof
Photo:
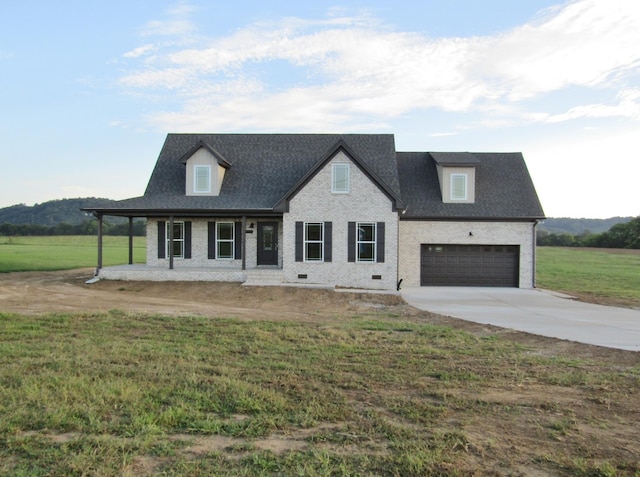
[[[150,22],[145,34],[188,41],[196,29],[191,10],[178,10],[169,20]],[[500,125],[509,118],[638,119],[637,98],[621,98],[616,106],[578,104],[556,115],[519,110],[523,100],[569,86],[624,85],[625,75],[637,74],[637,0],[570,2],[490,37],[432,39],[391,31],[367,15],[341,14],[256,23],[198,44],[147,44],[124,55],[139,61],[121,78],[123,86],[168,90],[182,102],[180,110],[149,116],[163,130],[384,127],[429,108],[482,111],[489,116],[485,124]],[[289,83],[291,71],[302,79]]]

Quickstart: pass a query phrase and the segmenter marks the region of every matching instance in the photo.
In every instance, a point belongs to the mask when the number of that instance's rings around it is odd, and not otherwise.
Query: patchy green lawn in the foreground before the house
[[[552,381],[566,363],[498,336],[375,315],[298,323],[118,311],[0,314],[0,331],[0,475],[475,475],[498,453],[495,438],[478,436],[504,428],[515,439],[518,423],[522,447],[537,436],[557,453],[539,451],[551,473],[571,475],[571,459],[586,469],[574,475],[640,472],[567,448],[560,439],[571,444],[592,418],[575,415],[573,401],[527,401],[521,387],[561,395],[568,384]],[[604,386],[617,402],[639,384],[618,363],[571,365],[589,369],[580,411]],[[482,398],[514,388],[518,405]],[[280,450],[261,446],[274,436]]]

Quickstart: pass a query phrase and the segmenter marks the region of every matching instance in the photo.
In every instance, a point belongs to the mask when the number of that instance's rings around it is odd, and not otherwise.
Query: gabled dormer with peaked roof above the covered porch
[[[200,141],[181,159],[186,170],[186,195],[217,196],[231,164],[222,155]]]

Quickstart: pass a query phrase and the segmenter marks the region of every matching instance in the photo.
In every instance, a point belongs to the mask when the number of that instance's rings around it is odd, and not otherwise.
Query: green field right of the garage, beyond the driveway
[[[640,303],[640,251],[538,247],[539,288],[623,298]]]

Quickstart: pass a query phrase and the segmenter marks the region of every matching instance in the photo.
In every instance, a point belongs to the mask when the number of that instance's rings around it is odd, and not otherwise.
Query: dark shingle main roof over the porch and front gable
[[[200,141],[231,164],[216,197],[185,195],[184,156]],[[144,196],[119,201],[103,212],[273,210],[340,141],[400,196],[392,134],[169,134]]]

